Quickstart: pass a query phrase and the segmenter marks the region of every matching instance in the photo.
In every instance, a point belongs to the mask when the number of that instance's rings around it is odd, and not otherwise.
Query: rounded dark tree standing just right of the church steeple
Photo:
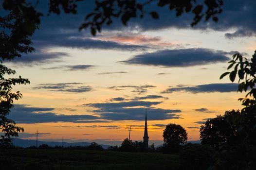
[[[170,123],[166,125],[163,137],[165,146],[177,146],[186,143],[187,132],[181,125]]]

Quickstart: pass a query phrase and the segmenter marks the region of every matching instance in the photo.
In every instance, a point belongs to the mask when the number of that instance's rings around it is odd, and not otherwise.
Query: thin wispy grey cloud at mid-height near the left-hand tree
[[[94,90],[90,85],[86,86],[77,86],[82,85],[82,83],[57,83],[57,84],[40,84],[33,89],[49,89],[52,91],[59,92],[70,92],[70,93],[83,93]]]

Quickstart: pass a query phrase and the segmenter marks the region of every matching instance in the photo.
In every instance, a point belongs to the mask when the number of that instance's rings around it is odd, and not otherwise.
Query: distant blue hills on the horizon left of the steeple
[[[36,146],[36,144],[42,145],[46,144],[48,146],[62,146],[62,142],[52,142],[52,141],[36,141],[36,140],[28,140],[28,139],[19,139],[19,138],[14,138],[13,144],[18,147],[22,148],[27,148],[30,146]],[[91,143],[89,142],[74,142],[74,143],[68,143],[68,142],[63,142],[64,147],[68,146],[89,146]],[[101,145],[104,149],[107,149],[109,145]]]

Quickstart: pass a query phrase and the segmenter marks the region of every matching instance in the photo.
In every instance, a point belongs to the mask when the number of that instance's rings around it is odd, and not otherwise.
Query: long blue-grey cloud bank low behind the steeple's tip
[[[165,120],[179,119],[177,113],[181,110],[155,108],[153,105],[162,102],[107,102],[107,103],[87,103],[82,106],[93,107],[95,109],[88,110],[93,115],[65,115],[54,112],[55,108],[47,107],[30,107],[24,104],[15,104],[11,109],[8,118],[13,119],[16,123],[47,123],[47,122],[73,122],[73,123],[100,123],[110,122],[113,120],[135,120],[141,121],[145,119],[145,107],[148,108],[148,120]],[[84,125],[84,127],[87,127]],[[89,127],[89,126],[88,126]],[[98,126],[102,128],[118,128],[111,126]]]

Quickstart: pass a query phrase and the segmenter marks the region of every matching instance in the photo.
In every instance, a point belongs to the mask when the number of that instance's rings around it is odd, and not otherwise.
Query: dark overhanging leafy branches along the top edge
[[[65,13],[76,14],[78,1],[82,0],[50,0],[49,13],[60,14],[60,7],[62,7]],[[130,18],[143,18],[145,15],[157,19],[161,17],[157,12],[153,10],[146,14],[145,11],[146,6],[154,1],[157,2],[156,7],[169,6],[170,10],[175,10],[177,17],[183,13],[193,13],[191,26],[196,25],[202,17],[205,17],[205,20],[211,18],[217,22],[216,15],[222,12],[221,6],[223,5],[223,0],[204,0],[203,2],[197,0],[146,0],[144,2],[140,0],[95,0],[96,7],[85,17],[85,22],[81,24],[79,30],[90,27],[91,34],[96,35],[97,32],[101,32],[103,25],[112,24],[114,18],[120,18],[124,25],[127,25]],[[203,8],[207,10],[203,11]]]

